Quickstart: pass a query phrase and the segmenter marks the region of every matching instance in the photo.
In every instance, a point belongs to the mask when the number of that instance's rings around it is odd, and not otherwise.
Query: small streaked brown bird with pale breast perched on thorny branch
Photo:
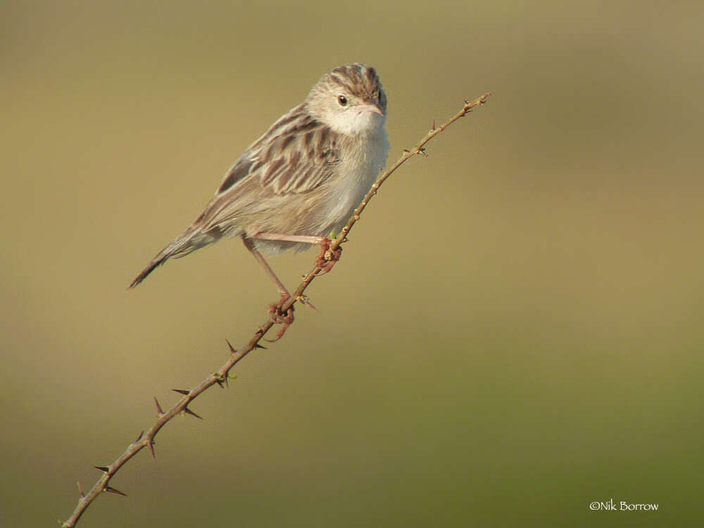
[[[386,94],[375,68],[334,68],[303,103],[282,115],[235,161],[203,213],[137,275],[140,284],[169,258],[224,238],[241,238],[290,297],[264,258],[325,247],[339,233],[386,164]]]

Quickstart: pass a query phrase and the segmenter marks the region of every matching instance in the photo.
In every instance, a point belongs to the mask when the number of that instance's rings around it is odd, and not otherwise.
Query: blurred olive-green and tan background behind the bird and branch
[[[319,312],[157,437],[86,527],[693,526],[703,484],[704,4],[4,2],[0,525],[227,358],[277,297],[239,241],[127,284],[337,65],[387,182]],[[272,260],[288,284],[313,251]],[[591,511],[593,501],[658,512]]]

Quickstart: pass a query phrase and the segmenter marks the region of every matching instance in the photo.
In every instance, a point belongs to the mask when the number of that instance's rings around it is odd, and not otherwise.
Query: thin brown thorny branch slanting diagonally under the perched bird
[[[379,187],[381,187],[382,183],[386,181],[386,178],[388,178],[393,172],[396,171],[396,169],[403,165],[403,163],[406,163],[408,159],[413,158],[413,156],[427,156],[427,154],[425,153],[425,145],[431,139],[436,137],[436,135],[440,134],[441,132],[444,132],[444,130],[448,126],[452,125],[453,122],[455,122],[459,118],[464,117],[465,115],[467,115],[467,113],[470,113],[474,107],[483,104],[484,101],[486,101],[486,99],[489,97],[489,95],[490,94],[484,94],[478,99],[474,99],[474,101],[465,101],[464,106],[458,113],[455,113],[455,115],[453,115],[448,121],[446,121],[439,127],[436,127],[435,122],[433,122],[432,130],[425,134],[425,137],[423,137],[420,142],[418,142],[413,147],[413,149],[404,150],[403,154],[400,158],[398,158],[396,163],[394,163],[394,165],[391,165],[388,170],[383,172],[382,175],[377,178],[377,181],[372,185],[372,188],[366,194],[362,203],[360,203],[360,206],[354,211],[352,218],[350,218],[349,222],[347,222],[347,225],[342,229],[339,237],[337,237],[337,239],[334,239],[331,242],[329,246],[329,251],[337,251],[337,249],[339,249],[339,246],[346,241],[347,234],[350,232],[353,225],[356,224],[357,220],[359,220],[360,214],[367,207],[367,203],[369,203],[372,197],[377,194],[377,190],[379,189]],[[303,296],[303,291],[306,291],[306,288],[308,288],[308,285],[313,282],[313,279],[315,279],[315,277],[317,277],[321,272],[325,272],[324,270],[327,268],[327,264],[328,263],[325,261],[316,261],[315,267],[310,270],[310,272],[308,272],[308,275],[303,278],[303,281],[301,282],[301,284],[298,285],[298,288],[296,288],[294,294],[291,295],[291,298],[289,298],[281,306],[281,313],[290,313],[289,310],[293,308],[296,301],[301,301],[301,303],[306,302],[305,297]],[[237,365],[239,360],[244,358],[244,356],[249,354],[251,351],[256,350],[256,348],[265,348],[264,346],[260,345],[259,342],[263,339],[265,334],[269,332],[271,327],[276,324],[276,322],[276,318],[270,316],[263,323],[263,325],[261,325],[256,330],[249,342],[242,348],[239,348],[237,350],[232,347],[230,341],[226,341],[227,346],[230,347],[231,354],[225,364],[222,365],[222,367],[220,367],[216,372],[213,372],[212,374],[208,375],[208,377],[206,377],[206,379],[203,379],[200,384],[194,386],[191,389],[173,389],[175,392],[181,394],[182,396],[181,399],[177,401],[175,405],[172,406],[172,408],[170,408],[169,410],[164,411],[161,408],[161,405],[159,404],[158,400],[154,398],[157,412],[156,421],[151,427],[149,427],[148,430],[139,433],[137,439],[132,442],[130,446],[127,446],[125,452],[122,453],[122,455],[120,455],[118,458],[116,458],[113,463],[107,466],[95,466],[96,470],[101,471],[102,474],[98,481],[94,484],[92,489],[90,489],[90,491],[85,493],[80,482],[77,483],[80,498],[78,500],[78,504],[76,505],[75,510],[73,510],[73,513],[61,525],[62,528],[75,527],[76,523],[78,522],[84,511],[88,508],[90,503],[92,503],[95,498],[99,496],[103,491],[118,495],[125,495],[124,493],[122,493],[122,491],[119,491],[118,489],[115,489],[109,485],[109,482],[120,470],[120,468],[125,465],[125,463],[127,463],[130,458],[134,457],[134,455],[139,453],[139,451],[142,451],[143,448],[149,449],[151,455],[154,456],[154,437],[161,430],[161,428],[164,427],[164,425],[166,425],[167,422],[169,422],[173,417],[180,414],[187,414],[196,418],[200,418],[202,420],[199,415],[196,415],[196,413],[189,409],[189,403],[191,403],[191,401],[194,401],[194,399],[196,399],[201,393],[203,393],[207,389],[210,389],[210,387],[215,384],[220,385],[221,388],[227,386],[228,379],[230,379],[230,370],[232,370],[232,367],[234,367],[234,365]]]

